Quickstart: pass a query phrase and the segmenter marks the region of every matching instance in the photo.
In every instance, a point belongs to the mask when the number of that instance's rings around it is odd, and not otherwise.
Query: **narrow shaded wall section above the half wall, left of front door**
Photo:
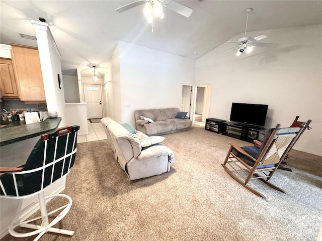
[[[65,103],[79,103],[77,76],[63,75]]]

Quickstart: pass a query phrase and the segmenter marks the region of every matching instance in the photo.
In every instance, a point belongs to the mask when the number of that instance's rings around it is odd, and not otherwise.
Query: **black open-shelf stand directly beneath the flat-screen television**
[[[226,122],[226,130],[222,135],[240,139],[246,142],[253,143],[254,140],[258,140],[260,131],[264,130],[263,128],[250,126],[235,122]]]

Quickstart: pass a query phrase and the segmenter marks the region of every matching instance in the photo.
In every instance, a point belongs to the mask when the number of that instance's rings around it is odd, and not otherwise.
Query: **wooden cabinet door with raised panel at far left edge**
[[[0,89],[1,97],[5,99],[18,99],[16,78],[11,59],[0,58],[1,74]]]

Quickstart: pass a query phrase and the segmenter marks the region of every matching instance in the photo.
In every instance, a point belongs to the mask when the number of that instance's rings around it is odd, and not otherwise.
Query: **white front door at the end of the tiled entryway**
[[[99,84],[84,84],[84,100],[87,103],[87,118],[102,118],[102,92]]]

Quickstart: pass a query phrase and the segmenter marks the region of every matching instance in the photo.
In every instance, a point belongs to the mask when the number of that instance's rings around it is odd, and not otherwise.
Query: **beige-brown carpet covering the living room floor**
[[[164,137],[175,153],[171,171],[135,181],[128,181],[107,140],[77,144],[63,191],[73,205],[58,225],[75,234],[46,233],[43,240],[316,240],[322,223],[321,157],[291,151],[287,166],[293,172],[278,170],[271,179],[286,194],[252,180],[265,200],[221,166],[228,141],[250,143],[197,125]]]

